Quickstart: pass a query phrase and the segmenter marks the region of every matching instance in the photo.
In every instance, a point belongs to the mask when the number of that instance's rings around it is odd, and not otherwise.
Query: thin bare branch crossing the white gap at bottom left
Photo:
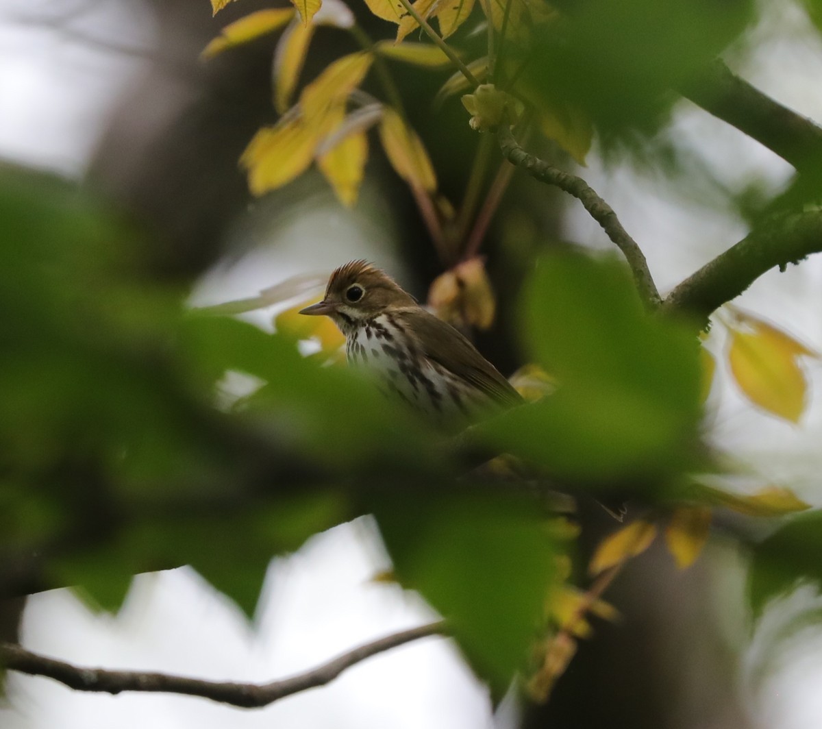
[[[297,676],[272,681],[268,684],[238,684],[222,681],[202,681],[185,676],[141,671],[106,671],[102,668],[84,668],[56,661],[21,648],[19,645],[0,644],[0,665],[30,676],[46,676],[78,691],[99,691],[119,694],[122,691],[185,694],[232,704],[242,708],[259,708],[273,704],[286,696],[316,688],[334,681],[340,673],[355,664],[413,640],[428,635],[442,634],[444,622],[420,625],[410,630],[386,635],[354,648],[348,653]]]

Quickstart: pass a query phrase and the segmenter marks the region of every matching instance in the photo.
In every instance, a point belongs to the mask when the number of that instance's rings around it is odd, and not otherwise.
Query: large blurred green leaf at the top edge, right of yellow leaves
[[[736,39],[750,0],[559,2],[524,73],[545,108],[583,108],[600,131],[653,131],[674,90]]]

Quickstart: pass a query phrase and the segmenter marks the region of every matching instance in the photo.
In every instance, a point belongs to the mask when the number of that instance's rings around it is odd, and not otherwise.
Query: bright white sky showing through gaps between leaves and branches
[[[207,5],[205,0],[192,2]],[[140,59],[90,50],[65,33],[21,21],[55,7],[88,8],[72,21],[73,30],[131,47],[150,48],[155,28],[137,0],[0,0],[0,156],[79,175],[118,95],[139,72]],[[742,54],[746,77],[801,113],[822,119],[822,48],[807,30],[803,13],[788,2],[770,3],[768,19],[752,45],[755,54]],[[785,85],[785,78],[792,84]],[[681,105],[675,130],[704,150],[714,173],[729,185],[764,176],[778,188],[790,174],[768,150],[690,104]],[[746,233],[741,221],[724,212],[682,205],[674,187],[649,185],[648,178],[630,168],[606,170],[595,155],[584,176],[635,234],[663,290]],[[321,251],[327,251],[323,242],[330,238],[337,241],[340,261],[374,257],[379,251],[381,262],[390,268],[394,261],[385,253],[385,241],[393,238],[390,215],[381,209],[378,191],[364,197],[380,213],[376,224],[369,222],[372,215],[349,214],[335,205],[321,208],[310,219],[295,216],[281,229],[276,249],[252,251],[215,270],[203,281],[195,302],[242,298],[274,284],[275,277],[327,267]],[[584,210],[573,202],[569,210],[569,238],[603,242]],[[822,261],[817,256],[785,274],[765,275],[738,304],[822,351],[820,283]],[[721,352],[721,331],[712,347]],[[819,393],[820,367],[809,366],[808,371]],[[790,483],[808,501],[822,503],[815,480],[822,473],[820,397],[801,426],[793,427],[755,411],[722,373],[719,383],[711,399],[718,443],[741,454],[764,480]],[[413,596],[369,582],[384,565],[370,534],[367,521],[343,526],[312,538],[298,554],[274,561],[254,634],[236,607],[183,569],[136,579],[127,606],[114,619],[93,616],[65,590],[35,596],[25,617],[24,643],[90,665],[270,681],[431,619],[427,607]],[[817,632],[792,644],[780,670],[756,683],[750,705],[762,729],[816,729],[822,724],[820,643]],[[315,727],[329,722],[358,729],[459,729],[493,723],[483,687],[449,644],[435,638],[375,657],[326,688],[253,712],[178,696],[82,694],[16,675],[9,678],[9,690],[13,707],[0,709],[0,722],[9,729],[208,729],[226,723]]]

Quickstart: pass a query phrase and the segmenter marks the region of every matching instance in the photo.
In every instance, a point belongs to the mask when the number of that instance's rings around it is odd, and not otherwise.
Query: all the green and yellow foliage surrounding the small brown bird
[[[212,0],[213,12],[229,2]],[[429,302],[455,325],[488,330],[497,302],[479,251],[512,174],[505,161],[488,174],[491,135],[513,128],[580,165],[595,134],[603,150],[647,139],[672,90],[738,39],[751,7],[476,4],[367,0],[396,31],[375,41],[340,0],[294,0],[239,17],[202,55],[281,32],[279,119],[256,131],[240,159],[252,195],[316,164],[339,201],[355,205],[375,131],[442,263]],[[305,83],[320,26],[359,49]],[[441,74],[432,101],[462,95],[465,134],[484,135],[459,206],[441,192],[393,64]],[[540,165],[550,166],[533,157],[521,166]],[[616,219],[583,180],[552,169],[558,187],[598,210],[594,219]],[[545,699],[592,634],[590,616],[616,617],[603,590],[660,534],[685,569],[719,510],[783,519],[752,550],[755,614],[801,580],[820,582],[819,514],[792,515],[808,505],[785,485],[750,495],[709,485],[726,467],[704,418],[721,369],[750,403],[801,423],[805,367],[819,354],[731,307],[714,323],[726,351],[709,353],[687,311],[673,316],[640,296],[635,253],[610,233],[629,266],[580,251],[524,261],[515,334],[525,364],[512,381],[527,404],[446,438],[381,399],[367,375],[335,366],[339,332],[299,316],[306,302],[294,301],[304,294],[296,286],[190,311],[187,291],[146,274],[143,233],[100,201],[30,173],[3,171],[0,216],[0,302],[14,312],[0,325],[2,596],[74,585],[115,611],[132,574],[189,564],[252,616],[271,556],[370,513],[396,579],[446,617],[492,694],[529,673],[532,694]],[[274,334],[232,316],[272,302],[285,303]],[[307,340],[319,349],[303,356]],[[256,382],[247,397],[227,391],[237,372]],[[506,455],[477,470],[477,452]],[[528,482],[540,497],[546,483],[580,499],[627,494],[639,513],[580,559],[578,529],[495,476]]]

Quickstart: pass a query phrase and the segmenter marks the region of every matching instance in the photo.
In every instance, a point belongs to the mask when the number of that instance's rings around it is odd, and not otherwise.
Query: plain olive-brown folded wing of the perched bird
[[[413,334],[428,359],[453,372],[492,400],[506,407],[522,402],[522,396],[514,386],[450,324],[419,308],[414,311]]]

